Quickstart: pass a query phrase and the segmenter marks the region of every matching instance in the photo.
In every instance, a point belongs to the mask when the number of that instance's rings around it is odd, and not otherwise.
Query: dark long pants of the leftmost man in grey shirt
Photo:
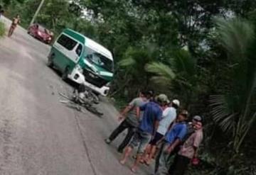
[[[133,125],[131,125],[127,120],[122,121],[120,125],[112,132],[109,139],[112,141],[114,140],[121,132],[123,132],[125,129],[128,129],[127,135],[122,141],[122,143],[119,145],[118,150],[122,151],[124,147],[126,147],[130,140],[132,139],[132,136],[134,135],[137,128],[135,128]]]

